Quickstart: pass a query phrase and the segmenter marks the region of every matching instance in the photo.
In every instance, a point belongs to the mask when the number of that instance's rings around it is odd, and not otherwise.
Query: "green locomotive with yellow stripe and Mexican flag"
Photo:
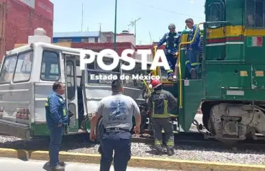
[[[205,1],[196,80],[188,79],[189,30],[182,32],[179,79],[163,84],[179,99],[179,110],[173,115],[184,132],[190,130],[201,104],[207,137],[231,143],[265,134],[264,6],[262,0]]]

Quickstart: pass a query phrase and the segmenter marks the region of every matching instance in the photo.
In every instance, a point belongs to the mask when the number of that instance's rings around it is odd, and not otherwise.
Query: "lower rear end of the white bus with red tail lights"
[[[32,90],[31,83],[10,83],[0,86],[0,107],[3,108],[3,116],[0,119],[1,133],[29,139]],[[27,110],[30,115],[27,115]]]

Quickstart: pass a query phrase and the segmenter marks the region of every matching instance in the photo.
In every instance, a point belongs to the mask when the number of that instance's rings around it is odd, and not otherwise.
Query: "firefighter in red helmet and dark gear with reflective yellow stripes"
[[[152,80],[153,93],[149,98],[148,109],[151,111],[151,126],[155,138],[157,154],[162,152],[162,128],[164,128],[168,155],[174,155],[173,122],[169,111],[177,109],[177,99],[162,89],[162,82]]]

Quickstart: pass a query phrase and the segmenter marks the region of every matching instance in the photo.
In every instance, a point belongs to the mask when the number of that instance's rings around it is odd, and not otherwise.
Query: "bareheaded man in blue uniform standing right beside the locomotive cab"
[[[197,29],[197,25],[194,25],[193,19],[186,19],[185,21],[187,27],[190,29],[190,32],[188,34],[188,42],[192,41],[192,38],[195,34],[195,31]],[[186,60],[186,67],[188,69],[188,71],[190,72],[191,78],[192,79],[196,79],[197,78],[197,67],[199,65],[198,62],[198,54],[200,51],[200,38],[201,38],[201,34],[200,34],[200,30],[198,30],[195,38],[194,38],[194,42],[190,43],[187,45],[187,50],[186,50],[186,56],[187,56],[187,60]]]

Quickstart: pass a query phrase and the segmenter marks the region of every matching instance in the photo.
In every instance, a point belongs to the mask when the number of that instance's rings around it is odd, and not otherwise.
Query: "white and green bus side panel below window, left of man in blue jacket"
[[[34,135],[49,135],[49,130],[46,125],[46,115],[45,115],[45,101],[49,93],[51,93],[53,82],[44,83],[38,82],[35,83],[35,115],[34,115],[34,124],[32,124],[32,129],[34,130]]]

